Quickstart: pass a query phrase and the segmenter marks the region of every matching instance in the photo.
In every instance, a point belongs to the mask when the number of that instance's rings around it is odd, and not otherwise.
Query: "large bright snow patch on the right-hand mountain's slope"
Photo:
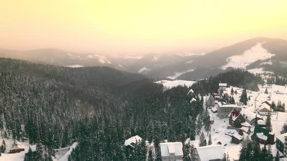
[[[274,56],[274,54],[271,54],[265,48],[262,48],[262,44],[263,43],[257,43],[254,47],[246,50],[241,55],[233,55],[227,58],[227,64],[222,67],[245,68],[255,61],[266,60]]]

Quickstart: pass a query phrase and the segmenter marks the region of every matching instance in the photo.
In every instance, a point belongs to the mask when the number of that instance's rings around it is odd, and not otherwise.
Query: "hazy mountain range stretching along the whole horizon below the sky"
[[[287,41],[256,37],[209,53],[169,53],[112,57],[55,48],[27,51],[0,49],[0,57],[60,66],[109,66],[155,79],[198,80],[230,67],[287,77]]]

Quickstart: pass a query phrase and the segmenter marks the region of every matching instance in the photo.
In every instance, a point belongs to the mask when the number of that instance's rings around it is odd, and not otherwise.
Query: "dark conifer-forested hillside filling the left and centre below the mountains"
[[[8,135],[44,145],[49,154],[37,152],[27,161],[50,161],[53,148],[74,142],[79,144],[72,161],[139,160],[135,157],[143,155],[124,149],[125,140],[134,135],[155,142],[159,157],[161,140],[181,142],[195,138],[202,126],[210,130],[208,111],[199,98],[190,104],[187,87],[163,92],[161,84],[108,67],[68,68],[2,58],[0,83],[0,120]]]

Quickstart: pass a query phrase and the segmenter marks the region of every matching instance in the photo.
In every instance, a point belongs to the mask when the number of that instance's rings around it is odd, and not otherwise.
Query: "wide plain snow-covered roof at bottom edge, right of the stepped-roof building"
[[[225,154],[224,145],[207,145],[196,147],[200,161],[222,159]]]

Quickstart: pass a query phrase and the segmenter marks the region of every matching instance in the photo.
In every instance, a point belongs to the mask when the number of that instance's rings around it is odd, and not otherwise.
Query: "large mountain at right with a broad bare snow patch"
[[[193,59],[194,71],[178,77],[193,80],[215,76],[229,67],[245,68],[253,73],[264,75],[279,74],[287,77],[287,41],[257,37],[229,47],[220,48]]]

